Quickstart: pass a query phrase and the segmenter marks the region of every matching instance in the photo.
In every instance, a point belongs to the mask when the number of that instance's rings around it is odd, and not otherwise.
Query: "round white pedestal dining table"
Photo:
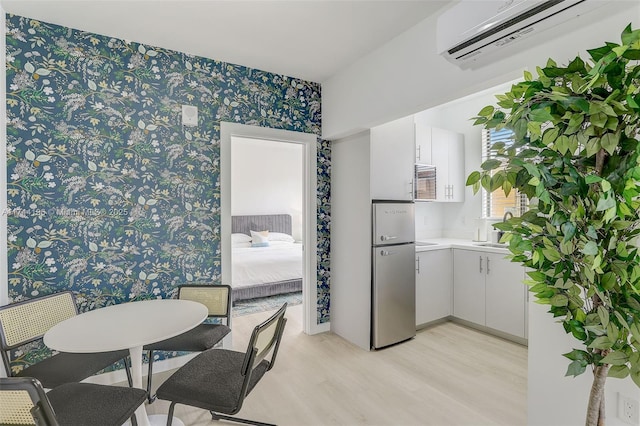
[[[61,352],[108,352],[128,349],[133,386],[142,388],[142,347],[177,336],[207,318],[207,307],[190,300],[157,299],[121,303],[77,315],[56,324],[44,343]],[[166,416],[163,416],[166,419]],[[139,425],[150,425],[144,404]],[[153,419],[156,423],[156,419]],[[162,421],[161,419],[157,419]]]

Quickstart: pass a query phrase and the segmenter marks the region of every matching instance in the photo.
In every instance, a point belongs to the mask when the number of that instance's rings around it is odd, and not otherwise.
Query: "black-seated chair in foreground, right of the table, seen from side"
[[[286,324],[285,303],[256,326],[246,352],[210,349],[180,367],[158,388],[159,399],[171,401],[167,425],[171,426],[176,404],[209,410],[214,420],[269,425],[231,417],[240,411],[246,396],[274,366]],[[271,358],[267,360],[267,355]]]

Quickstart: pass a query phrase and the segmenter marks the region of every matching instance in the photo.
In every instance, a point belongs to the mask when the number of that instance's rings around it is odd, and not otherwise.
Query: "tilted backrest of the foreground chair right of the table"
[[[287,323],[287,319],[284,317],[286,310],[287,304],[285,303],[276,313],[269,317],[269,319],[253,329],[242,366],[242,374],[245,377],[250,376],[251,371],[260,364],[270,352],[272,352],[272,355],[269,360],[268,369],[270,370],[273,367],[280,341],[282,340],[284,326]]]

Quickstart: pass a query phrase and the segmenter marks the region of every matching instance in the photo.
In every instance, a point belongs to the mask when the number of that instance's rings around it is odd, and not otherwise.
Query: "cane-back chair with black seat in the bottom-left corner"
[[[0,378],[0,424],[121,426],[144,403],[143,389],[65,383],[45,394],[32,377]]]

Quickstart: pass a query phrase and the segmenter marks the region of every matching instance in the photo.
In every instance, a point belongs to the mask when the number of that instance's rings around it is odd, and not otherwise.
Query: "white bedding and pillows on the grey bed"
[[[302,278],[302,244],[270,242],[268,247],[234,247],[232,287]]]

